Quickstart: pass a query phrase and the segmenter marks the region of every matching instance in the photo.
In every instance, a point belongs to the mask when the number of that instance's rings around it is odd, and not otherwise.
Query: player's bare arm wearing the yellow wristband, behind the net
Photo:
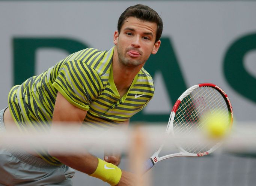
[[[86,116],[87,111],[81,110],[66,100],[62,94],[57,93],[53,112],[53,123],[51,129],[57,129],[60,126],[74,125],[79,129]],[[83,147],[81,147],[83,148]],[[84,153],[77,155],[58,155],[53,153],[54,149],[48,149],[48,153],[75,170],[86,174],[92,174],[98,167],[98,158],[91,155],[84,149]],[[122,171],[122,176],[117,186],[133,186],[134,174]]]

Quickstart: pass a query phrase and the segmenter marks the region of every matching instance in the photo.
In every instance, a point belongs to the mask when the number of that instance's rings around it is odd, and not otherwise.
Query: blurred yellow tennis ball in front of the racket
[[[229,119],[221,112],[208,113],[202,120],[203,128],[209,138],[220,139],[227,135],[229,131]]]

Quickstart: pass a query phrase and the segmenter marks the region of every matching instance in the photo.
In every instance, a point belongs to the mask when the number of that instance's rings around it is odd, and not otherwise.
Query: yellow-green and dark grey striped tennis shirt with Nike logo
[[[69,103],[87,111],[83,126],[89,128],[116,126],[142,110],[154,95],[152,77],[142,68],[128,92],[120,97],[113,80],[113,52],[114,47],[108,51],[87,48],[75,52],[14,86],[8,99],[18,128],[50,128],[58,91]],[[60,164],[47,152],[39,155],[50,164]]]

